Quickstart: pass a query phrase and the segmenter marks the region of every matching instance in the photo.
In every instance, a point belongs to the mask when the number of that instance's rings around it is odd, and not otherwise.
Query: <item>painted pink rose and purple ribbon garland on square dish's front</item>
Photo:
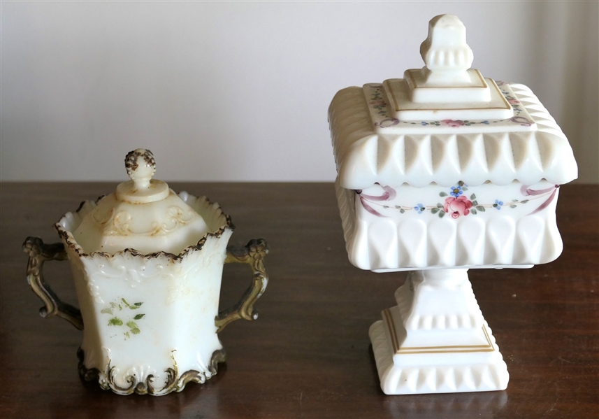
[[[504,206],[508,206],[513,209],[520,205],[528,204],[528,202],[532,201],[533,199],[544,199],[542,204],[540,204],[540,206],[535,208],[528,215],[535,214],[544,210],[544,208],[547,208],[547,206],[551,204],[551,201],[553,201],[556,196],[558,187],[559,185],[553,185],[542,190],[533,190],[528,185],[522,185],[520,188],[520,193],[524,195],[524,197],[533,198],[527,198],[521,201],[518,199],[512,199],[512,201],[507,202],[496,199],[493,204],[481,204],[478,202],[476,194],[470,194],[470,197],[466,197],[466,195],[464,195],[464,192],[468,191],[468,185],[460,181],[456,186],[449,188],[449,194],[445,191],[439,192],[439,197],[445,198],[443,203],[438,202],[436,205],[429,206],[420,203],[416,204],[415,206],[388,205],[389,201],[397,196],[396,190],[389,186],[382,186],[384,192],[380,196],[366,195],[363,194],[361,190],[355,190],[354,192],[358,194],[363,208],[377,217],[389,217],[389,215],[384,214],[384,211],[394,209],[399,211],[401,214],[405,213],[405,211],[416,211],[418,214],[431,211],[431,214],[436,214],[440,218],[443,218],[446,214],[449,214],[451,218],[456,219],[460,217],[466,217],[470,214],[477,215],[479,213],[484,213],[488,208],[500,210]]]

